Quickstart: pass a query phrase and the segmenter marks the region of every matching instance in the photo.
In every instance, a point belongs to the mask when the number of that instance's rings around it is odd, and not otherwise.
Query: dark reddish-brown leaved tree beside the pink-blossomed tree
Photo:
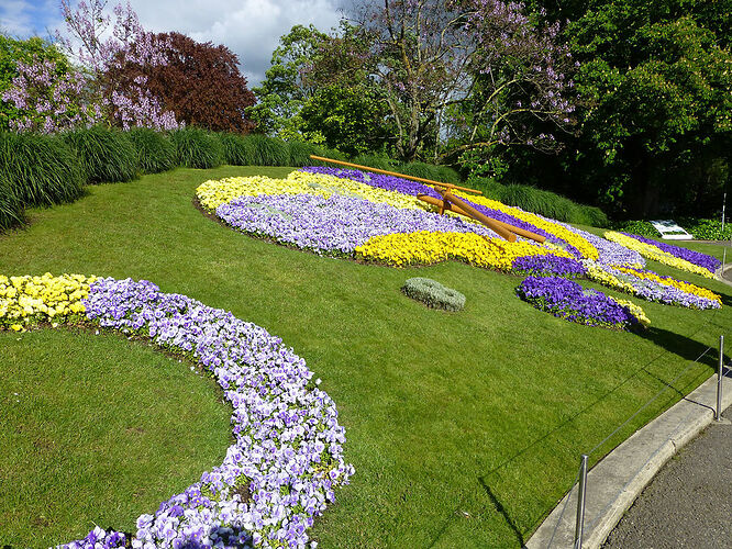
[[[164,63],[127,60],[112,66],[111,89],[134,89],[144,81],[149,93],[179,122],[213,131],[247,133],[253,123],[245,111],[255,102],[239,70],[239,58],[228,47],[199,43],[180,34],[153,36]],[[134,43],[133,51],[140,46]]]

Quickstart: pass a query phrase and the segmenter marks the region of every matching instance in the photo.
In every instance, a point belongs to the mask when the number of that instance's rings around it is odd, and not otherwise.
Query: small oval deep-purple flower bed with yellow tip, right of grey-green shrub
[[[636,307],[620,304],[597,290],[585,290],[573,280],[558,277],[528,277],[517,294],[540,311],[587,326],[630,329],[640,325],[645,315]]]

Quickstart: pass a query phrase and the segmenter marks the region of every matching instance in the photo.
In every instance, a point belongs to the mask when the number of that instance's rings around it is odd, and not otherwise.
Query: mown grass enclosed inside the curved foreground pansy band
[[[188,363],[117,335],[0,333],[0,546],[143,513],[221,463],[231,407]]]

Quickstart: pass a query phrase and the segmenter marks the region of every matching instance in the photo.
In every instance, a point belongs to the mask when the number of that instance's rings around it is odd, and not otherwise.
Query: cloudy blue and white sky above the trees
[[[71,0],[77,4],[77,0]],[[109,1],[109,12],[119,0]],[[143,27],[176,31],[198,42],[223,44],[239,56],[249,88],[269,68],[279,37],[292,25],[313,24],[321,31],[337,26],[340,8],[352,0],[130,0]],[[59,0],[0,0],[0,31],[27,38],[64,30]]]

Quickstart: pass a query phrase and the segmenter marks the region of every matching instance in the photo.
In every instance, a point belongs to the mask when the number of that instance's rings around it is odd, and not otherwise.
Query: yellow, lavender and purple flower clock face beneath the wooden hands
[[[567,295],[574,295],[576,287],[559,279],[588,279],[639,299],[669,305],[699,310],[721,306],[721,298],[709,290],[643,269],[644,257],[663,257],[668,265],[691,266],[687,270],[708,274],[708,268],[717,261],[714,258],[688,250],[674,255],[665,248],[655,248],[657,253],[650,254],[647,243],[631,237],[615,238],[608,234],[608,238],[601,238],[485,197],[454,191],[483,214],[545,238],[544,244],[524,238],[508,243],[470,219],[453,212],[437,214],[433,206],[417,198],[418,194],[440,198],[432,188],[395,176],[307,167],[285,179],[241,177],[206,181],[196,192],[200,204],[226,225],[320,255],[393,267],[453,259],[532,279],[546,278],[533,282],[534,285],[555,287]],[[524,290],[520,288],[518,295],[536,306],[541,300],[530,298]],[[613,300],[598,292],[591,298],[595,305],[612,301],[607,310],[624,307],[625,314],[634,320],[610,322],[599,312],[599,305],[583,309],[578,296],[572,306],[584,312],[559,316],[580,324],[622,329],[647,325],[643,310],[630,301]],[[556,307],[540,309],[556,314]],[[589,311],[598,311],[596,322],[588,321]]]

